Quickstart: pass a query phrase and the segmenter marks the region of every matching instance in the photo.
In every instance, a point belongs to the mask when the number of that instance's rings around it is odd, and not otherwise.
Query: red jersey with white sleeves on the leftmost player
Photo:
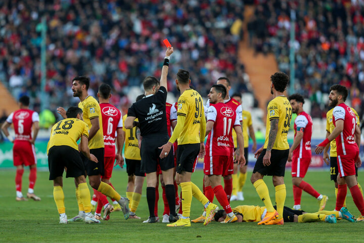
[[[35,121],[39,121],[38,113],[28,109],[14,111],[7,118],[7,122],[14,125],[15,140],[32,139],[31,132]]]

